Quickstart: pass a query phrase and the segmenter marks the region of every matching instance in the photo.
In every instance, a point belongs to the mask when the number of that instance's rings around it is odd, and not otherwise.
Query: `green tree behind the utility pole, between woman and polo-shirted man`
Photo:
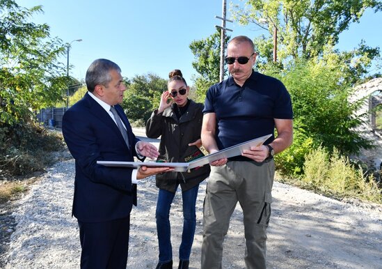
[[[225,46],[230,40],[230,36],[225,38]],[[195,61],[192,66],[198,72],[198,76],[193,77],[194,86],[198,96],[198,102],[204,102],[207,89],[219,82],[220,77],[220,47],[221,31],[216,32],[208,38],[194,40],[190,44],[191,52]],[[225,68],[225,73],[227,68]]]

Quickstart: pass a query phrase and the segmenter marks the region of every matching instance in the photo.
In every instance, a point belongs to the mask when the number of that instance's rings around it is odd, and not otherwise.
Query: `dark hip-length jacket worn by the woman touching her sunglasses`
[[[193,102],[193,100],[189,100],[189,102],[189,107],[179,120],[173,110],[177,109],[177,105],[173,104],[161,114],[158,114],[158,109],[155,109],[146,123],[147,137],[158,138],[161,136],[158,160],[191,162],[194,160],[193,156],[200,153],[197,146],[189,146],[189,143],[200,139],[203,105]],[[175,192],[177,183],[180,183],[184,192],[198,185],[207,176],[209,176],[209,165],[206,164],[203,167],[192,169],[190,172],[157,174],[156,181],[157,187],[169,192]]]

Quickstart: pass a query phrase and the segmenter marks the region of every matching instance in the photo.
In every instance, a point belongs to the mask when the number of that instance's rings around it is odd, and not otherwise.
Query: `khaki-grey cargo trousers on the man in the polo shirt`
[[[222,167],[211,167],[203,206],[202,269],[222,267],[223,241],[238,201],[244,215],[246,268],[266,268],[274,174],[273,159],[261,163],[229,161]]]

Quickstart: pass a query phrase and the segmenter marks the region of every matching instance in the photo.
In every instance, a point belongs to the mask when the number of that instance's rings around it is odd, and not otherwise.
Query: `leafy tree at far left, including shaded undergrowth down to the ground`
[[[0,0],[0,170],[22,175],[51,164],[49,151],[63,147],[61,137],[35,124],[33,111],[63,100],[65,68],[58,62],[64,47],[49,37],[47,24],[29,22],[42,12]]]

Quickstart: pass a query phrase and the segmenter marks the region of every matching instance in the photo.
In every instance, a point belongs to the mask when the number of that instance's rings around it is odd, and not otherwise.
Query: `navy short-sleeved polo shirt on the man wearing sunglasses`
[[[232,77],[207,91],[203,113],[216,114],[219,150],[273,134],[273,118],[292,119],[290,95],[280,80],[253,70],[241,87]],[[270,137],[264,144],[273,141]]]

